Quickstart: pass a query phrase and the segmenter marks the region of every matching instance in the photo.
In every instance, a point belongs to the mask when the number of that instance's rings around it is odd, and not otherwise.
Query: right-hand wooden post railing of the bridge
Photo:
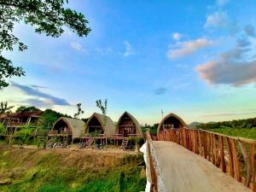
[[[157,140],[183,145],[256,192],[255,140],[188,128],[160,131]]]

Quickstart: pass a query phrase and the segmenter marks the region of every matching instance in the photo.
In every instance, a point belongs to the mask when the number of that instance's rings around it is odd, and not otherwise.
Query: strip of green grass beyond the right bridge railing
[[[218,128],[218,129],[208,129],[208,131],[215,131],[225,135],[234,136],[234,137],[245,137],[250,139],[256,139],[256,128],[247,129],[247,128]]]

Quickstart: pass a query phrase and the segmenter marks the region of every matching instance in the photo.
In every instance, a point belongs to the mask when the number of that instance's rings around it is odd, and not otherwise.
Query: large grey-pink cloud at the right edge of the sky
[[[256,59],[250,55],[252,44],[246,38],[238,39],[233,49],[220,54],[217,60],[198,65],[195,71],[209,84],[255,84]]]

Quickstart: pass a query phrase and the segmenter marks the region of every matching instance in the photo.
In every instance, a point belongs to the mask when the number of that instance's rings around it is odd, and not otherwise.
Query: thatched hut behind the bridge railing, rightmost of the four
[[[157,132],[170,128],[179,129],[184,126],[186,126],[186,124],[183,119],[174,113],[169,113],[164,119],[161,120],[160,124],[158,125]]]

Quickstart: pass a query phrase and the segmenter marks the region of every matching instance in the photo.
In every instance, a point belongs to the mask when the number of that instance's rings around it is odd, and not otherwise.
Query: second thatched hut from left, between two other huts
[[[106,121],[106,122],[105,122]],[[99,134],[105,134],[106,137],[112,137],[114,133],[113,120],[100,113],[93,113],[88,119],[85,125],[85,134],[98,132]]]

